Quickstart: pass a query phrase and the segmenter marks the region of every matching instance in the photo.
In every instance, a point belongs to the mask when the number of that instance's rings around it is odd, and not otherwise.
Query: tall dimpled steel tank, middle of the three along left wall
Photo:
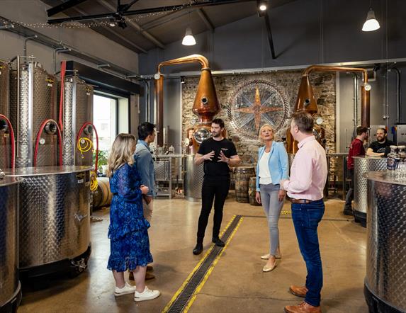
[[[19,84],[17,84],[19,81]],[[57,81],[37,62],[11,71],[10,118],[16,132],[16,167],[33,166],[35,140],[45,120],[57,120]],[[41,135],[37,166],[57,165],[57,128],[48,123]]]

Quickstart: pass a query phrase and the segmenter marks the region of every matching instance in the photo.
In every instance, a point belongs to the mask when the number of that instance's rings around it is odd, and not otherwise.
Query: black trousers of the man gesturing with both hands
[[[205,228],[207,227],[208,217],[214,200],[213,217],[213,237],[218,238],[222,221],[222,207],[227,198],[230,189],[230,180],[209,181],[203,180],[202,186],[202,208],[198,222],[198,243],[203,243]]]

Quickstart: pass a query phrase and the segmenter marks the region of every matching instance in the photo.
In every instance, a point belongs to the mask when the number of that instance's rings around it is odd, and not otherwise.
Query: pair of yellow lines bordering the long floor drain
[[[228,227],[230,227],[230,224],[232,223],[233,220],[235,220],[235,217],[236,217],[236,215],[234,215],[232,217],[232,219],[230,220],[230,222],[228,222],[225,229],[223,229],[223,231],[220,233],[220,236],[219,236],[220,238],[222,237],[222,234],[224,234],[225,231],[228,229]],[[232,237],[234,237],[235,232],[237,232],[237,229],[239,227],[239,224],[241,224],[241,222],[242,222],[242,217],[239,219],[239,222],[238,222],[237,226],[235,227],[234,231],[232,232],[232,234],[230,234],[230,237],[228,237],[224,248],[222,248],[222,250],[220,251],[220,254],[218,254],[218,256],[216,256],[213,263],[210,265],[210,268],[208,268],[208,271],[207,271],[207,273],[205,273],[203,279],[201,280],[201,283],[199,283],[197,285],[195,292],[193,292],[193,295],[191,296],[191,299],[186,304],[186,307],[185,307],[185,309],[183,311],[184,313],[188,312],[188,309],[190,309],[191,305],[196,300],[196,295],[198,294],[198,292],[201,291],[201,289],[203,288],[203,285],[205,284],[206,280],[208,280],[208,277],[210,276],[211,272],[213,272],[213,268],[218,263],[218,260],[222,256],[222,253],[225,251],[228,244],[230,244],[230,241],[231,241]],[[210,249],[208,249],[208,251],[205,253],[203,258],[201,258],[201,260],[198,262],[198,264],[195,266],[195,268],[193,268],[193,271],[191,271],[191,273],[188,275],[188,277],[186,278],[184,283],[181,285],[181,287],[175,292],[174,296],[171,298],[171,301],[169,301],[168,304],[166,305],[166,307],[164,307],[164,309],[162,310],[162,313],[167,313],[168,312],[171,305],[175,302],[175,300],[178,298],[178,296],[181,294],[181,292],[184,291],[184,289],[185,289],[186,285],[188,284],[189,280],[191,280],[194,273],[196,273],[196,271],[198,271],[198,268],[200,268],[201,263],[203,263],[203,261],[205,261],[205,259],[208,257],[208,255],[210,254],[210,252],[213,250],[214,247],[215,247],[214,244],[212,244],[210,246]]]

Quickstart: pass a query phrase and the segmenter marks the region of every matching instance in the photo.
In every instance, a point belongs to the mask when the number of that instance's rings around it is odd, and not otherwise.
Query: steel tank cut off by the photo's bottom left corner
[[[0,312],[16,312],[21,301],[18,280],[18,183],[0,178]]]

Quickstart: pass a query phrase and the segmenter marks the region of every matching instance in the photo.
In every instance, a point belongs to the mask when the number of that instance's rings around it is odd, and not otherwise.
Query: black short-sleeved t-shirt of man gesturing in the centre
[[[201,143],[198,149],[198,154],[204,155],[214,151],[214,157],[212,161],[204,161],[204,178],[208,180],[227,180],[230,179],[230,167],[225,162],[218,162],[220,156],[220,150],[227,158],[237,155],[237,149],[235,145],[225,138],[222,140],[214,140],[209,138]]]

